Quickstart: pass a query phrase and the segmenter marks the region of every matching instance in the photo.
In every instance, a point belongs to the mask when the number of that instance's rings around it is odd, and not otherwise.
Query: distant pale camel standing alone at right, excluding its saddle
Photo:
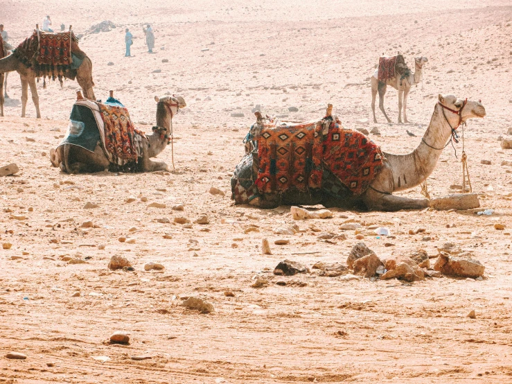
[[[378,69],[373,72],[371,76],[371,110],[373,111],[373,123],[377,123],[377,118],[375,116],[375,100],[377,94],[379,94],[379,108],[387,119],[388,123],[391,123],[391,120],[386,114],[384,110],[384,96],[386,94],[386,88],[389,85],[390,87],[394,87],[398,91],[398,123],[402,123],[402,107],[403,107],[403,120],[405,123],[409,123],[407,120],[407,97],[409,96],[409,91],[411,87],[415,84],[421,82],[421,73],[423,71],[423,65],[425,62],[428,62],[428,59],[423,57],[414,58],[414,65],[416,67],[416,71],[411,73],[411,71],[407,70],[405,73],[405,77],[402,78],[400,74],[396,73],[394,78],[385,81],[378,80]]]

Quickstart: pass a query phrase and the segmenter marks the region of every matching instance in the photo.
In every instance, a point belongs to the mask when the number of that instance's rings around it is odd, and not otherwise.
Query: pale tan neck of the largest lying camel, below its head
[[[385,153],[393,170],[394,191],[418,186],[434,171],[452,130],[443,116],[442,107],[436,104],[430,124],[418,147],[406,155]]]

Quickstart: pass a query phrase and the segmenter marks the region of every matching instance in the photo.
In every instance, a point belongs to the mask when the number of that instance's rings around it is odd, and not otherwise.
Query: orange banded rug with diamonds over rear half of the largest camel
[[[258,142],[258,175],[254,184],[260,193],[301,192],[321,188],[321,143],[317,121],[275,122],[261,126]]]

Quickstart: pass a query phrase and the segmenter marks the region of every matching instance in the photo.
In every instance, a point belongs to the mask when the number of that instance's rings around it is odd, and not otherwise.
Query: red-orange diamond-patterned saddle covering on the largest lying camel
[[[352,195],[361,195],[384,159],[373,141],[331,116],[305,123],[258,119],[245,143],[259,194],[319,190],[327,171]]]

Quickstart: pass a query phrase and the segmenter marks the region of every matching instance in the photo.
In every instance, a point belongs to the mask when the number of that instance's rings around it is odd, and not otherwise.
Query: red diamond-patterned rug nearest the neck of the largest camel
[[[354,196],[366,191],[382,168],[380,147],[355,130],[332,121],[323,141],[323,163]]]

